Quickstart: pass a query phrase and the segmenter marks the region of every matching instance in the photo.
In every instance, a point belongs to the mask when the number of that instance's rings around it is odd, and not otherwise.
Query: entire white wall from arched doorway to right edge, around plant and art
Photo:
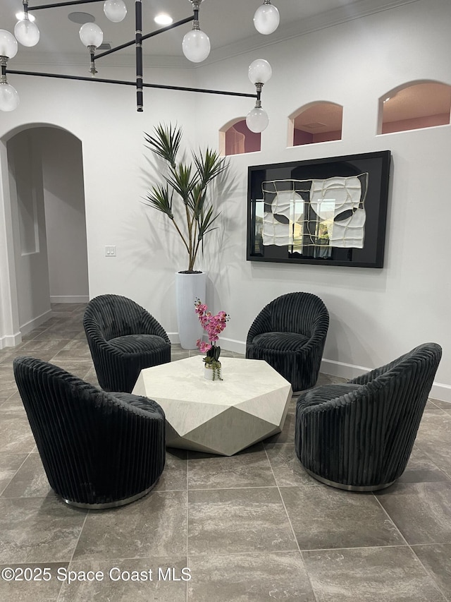
[[[436,341],[444,354],[436,378],[441,385],[433,394],[451,400],[451,208],[445,180],[450,126],[376,136],[378,99],[385,92],[412,80],[451,84],[450,21],[448,0],[419,0],[195,72],[147,73],[145,80],[181,85],[195,84],[195,73],[205,88],[253,92],[249,63],[262,56],[273,67],[262,97],[271,121],[261,152],[230,157],[228,181],[217,194],[221,228],[211,235],[199,262],[209,271],[207,301],[215,311],[231,315],[223,347],[243,349],[254,316],[275,296],[311,291],[330,311],[324,354],[328,371],[352,375],[359,366],[378,366],[416,344]],[[101,76],[127,78],[120,70],[106,71]],[[252,100],[146,90],[144,113],[137,114],[130,88],[33,79],[11,76],[21,104],[14,114],[0,116],[0,138],[25,123],[55,124],[80,138],[89,294],[130,296],[175,332],[173,272],[185,266],[179,260],[180,243],[168,236],[163,217],[140,204],[149,183],[150,154],[142,132],[152,131],[159,121],[178,121],[191,145],[217,148],[219,128],[245,116]],[[315,100],[343,105],[342,140],[288,148],[288,115]],[[383,269],[246,261],[248,165],[375,150],[393,154]],[[105,258],[109,244],[116,245],[116,258]]]

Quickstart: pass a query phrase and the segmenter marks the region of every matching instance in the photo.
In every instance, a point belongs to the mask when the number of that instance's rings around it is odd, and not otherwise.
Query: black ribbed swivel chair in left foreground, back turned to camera
[[[165,463],[165,416],[147,397],[106,393],[51,363],[19,357],[14,376],[51,488],[106,508],[149,492]]]

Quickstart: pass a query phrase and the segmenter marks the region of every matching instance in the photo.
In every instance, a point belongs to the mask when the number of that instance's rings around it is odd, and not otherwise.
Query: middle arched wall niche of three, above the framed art
[[[343,107],[336,102],[316,100],[288,117],[288,146],[341,140]]]

